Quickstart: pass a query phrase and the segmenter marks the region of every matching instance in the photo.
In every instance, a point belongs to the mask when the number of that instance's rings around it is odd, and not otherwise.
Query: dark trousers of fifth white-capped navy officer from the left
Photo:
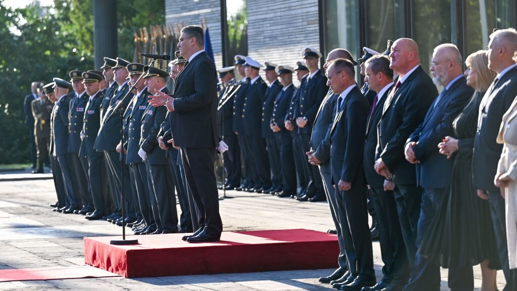
[[[275,133],[277,144],[280,146],[280,161],[282,170],[282,191],[284,194],[296,195],[296,167],[293,157],[293,138],[287,130]]]

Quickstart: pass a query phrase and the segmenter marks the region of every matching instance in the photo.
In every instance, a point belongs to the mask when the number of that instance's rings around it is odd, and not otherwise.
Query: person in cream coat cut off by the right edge
[[[517,52],[513,56],[517,62]],[[494,183],[501,189],[506,208],[506,239],[510,269],[517,268],[517,98],[503,115],[497,136],[503,143]]]

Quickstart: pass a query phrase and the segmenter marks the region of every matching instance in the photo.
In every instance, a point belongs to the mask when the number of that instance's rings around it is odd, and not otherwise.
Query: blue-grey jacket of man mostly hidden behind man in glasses
[[[327,96],[322,101],[316,114],[316,119],[312,127],[311,148],[316,157],[322,162],[321,170],[330,173],[330,143],[325,142],[325,136],[332,127],[332,121],[336,113],[336,100],[338,94],[329,90]]]

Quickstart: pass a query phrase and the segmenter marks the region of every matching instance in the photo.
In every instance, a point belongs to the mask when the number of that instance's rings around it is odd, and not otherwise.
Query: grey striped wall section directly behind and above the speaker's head
[[[203,17],[210,32],[216,67],[222,67],[221,2],[220,0],[165,0],[165,23],[200,25]]]

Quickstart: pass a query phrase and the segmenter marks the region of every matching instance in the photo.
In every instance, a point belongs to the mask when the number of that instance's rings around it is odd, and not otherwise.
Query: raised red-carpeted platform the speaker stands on
[[[335,235],[307,229],[223,232],[221,241],[188,243],[184,234],[129,236],[136,245],[111,245],[120,237],[85,237],[85,263],[126,278],[245,273],[337,267]]]

